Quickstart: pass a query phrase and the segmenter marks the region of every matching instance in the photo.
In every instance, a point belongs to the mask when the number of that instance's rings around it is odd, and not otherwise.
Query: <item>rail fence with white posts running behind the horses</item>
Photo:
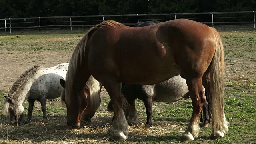
[[[201,12],[201,13],[170,13],[170,14],[121,14],[121,15],[90,15],[90,16],[45,16],[31,18],[2,18],[0,30],[92,27],[104,20],[116,20],[122,24],[133,26],[136,22],[159,20],[161,22],[177,18],[186,18],[204,24],[253,24],[255,28],[255,12]]]

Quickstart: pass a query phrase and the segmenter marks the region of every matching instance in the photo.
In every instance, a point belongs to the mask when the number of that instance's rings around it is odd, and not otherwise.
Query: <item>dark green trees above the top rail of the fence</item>
[[[255,9],[255,0],[0,0],[0,18]]]

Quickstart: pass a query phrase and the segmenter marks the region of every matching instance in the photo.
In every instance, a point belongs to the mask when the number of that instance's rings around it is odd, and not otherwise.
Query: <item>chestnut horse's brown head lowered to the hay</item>
[[[65,80],[60,79],[60,84],[63,89],[61,92],[61,102],[62,105],[66,105],[67,107],[67,124],[68,126],[72,126],[72,128],[79,128],[80,121],[83,116],[85,108],[88,106],[88,102],[90,102],[90,91],[88,89],[88,85],[86,84],[80,92],[78,92],[78,97],[80,100],[77,100],[77,104],[79,106],[72,107],[71,105],[68,107],[65,102]]]

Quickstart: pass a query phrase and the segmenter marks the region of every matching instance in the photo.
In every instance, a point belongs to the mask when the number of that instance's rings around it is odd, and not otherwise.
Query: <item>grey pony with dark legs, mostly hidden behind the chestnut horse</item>
[[[128,124],[137,124],[138,116],[135,108],[135,100],[142,100],[147,114],[146,127],[152,126],[152,105],[153,102],[176,102],[182,98],[189,98],[188,86],[186,80],[180,75],[174,76],[164,82],[154,85],[138,85],[122,83],[122,93],[127,99],[128,107],[123,106],[124,114]],[[207,127],[210,122],[211,113],[209,113],[209,96],[207,93],[206,101],[203,106],[204,127]],[[113,112],[111,101],[108,103],[108,111]],[[201,117],[201,122],[203,119]]]

